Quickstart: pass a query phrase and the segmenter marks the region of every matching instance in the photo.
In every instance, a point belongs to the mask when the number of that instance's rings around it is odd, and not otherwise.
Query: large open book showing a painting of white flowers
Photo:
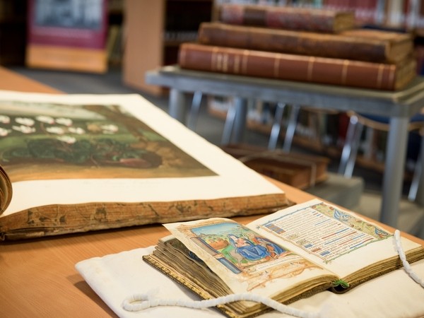
[[[0,91],[0,109],[1,239],[289,204],[269,180],[140,95]]]

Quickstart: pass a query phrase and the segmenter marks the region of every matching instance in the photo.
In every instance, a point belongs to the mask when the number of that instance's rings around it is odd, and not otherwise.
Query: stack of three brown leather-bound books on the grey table
[[[416,77],[413,36],[360,28],[353,11],[222,4],[179,47],[182,69],[398,90]]]

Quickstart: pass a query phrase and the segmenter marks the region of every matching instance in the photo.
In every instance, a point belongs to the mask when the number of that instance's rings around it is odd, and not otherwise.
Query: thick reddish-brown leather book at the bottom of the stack
[[[403,88],[416,77],[415,59],[383,64],[188,42],[179,47],[178,61],[182,69],[377,90]]]

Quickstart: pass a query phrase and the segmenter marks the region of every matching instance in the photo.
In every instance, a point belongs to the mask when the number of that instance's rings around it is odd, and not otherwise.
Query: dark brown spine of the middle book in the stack
[[[198,42],[204,45],[313,55],[359,61],[387,61],[387,42],[366,37],[201,23]]]

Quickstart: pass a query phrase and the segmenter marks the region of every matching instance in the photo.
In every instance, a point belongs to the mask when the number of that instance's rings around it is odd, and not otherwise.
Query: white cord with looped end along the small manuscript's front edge
[[[136,294],[132,295],[129,298],[126,298],[122,302],[122,307],[124,310],[129,312],[138,312],[140,310],[145,310],[151,307],[158,306],[178,306],[178,307],[188,307],[194,309],[204,309],[208,307],[216,307],[217,305],[223,305],[228,302],[236,302],[239,300],[247,300],[252,302],[261,302],[262,304],[282,312],[283,314],[290,314],[294,317],[300,318],[314,318],[319,317],[317,313],[314,312],[305,312],[302,310],[295,309],[293,307],[288,307],[287,305],[281,304],[276,300],[272,300],[268,297],[263,297],[253,293],[240,293],[240,294],[231,294],[223,297],[213,298],[210,300],[175,300],[175,299],[150,299],[151,297],[146,294]]]

